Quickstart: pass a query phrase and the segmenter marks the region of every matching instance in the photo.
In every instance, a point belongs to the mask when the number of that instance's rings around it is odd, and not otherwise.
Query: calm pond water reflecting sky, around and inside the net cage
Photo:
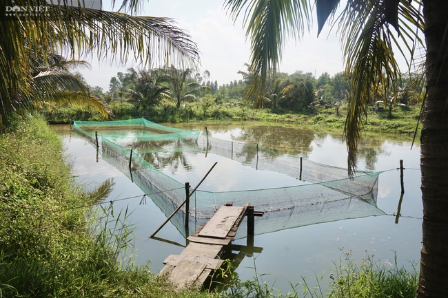
[[[202,130],[207,126],[211,136],[223,140],[250,142],[268,149],[303,156],[309,160],[335,167],[346,167],[347,149],[341,136],[309,129],[297,129],[283,125],[264,125],[262,123],[186,123],[167,124],[184,129]],[[114,200],[114,209],[126,207],[132,211],[130,222],[134,224],[134,261],[149,264],[157,273],[163,267],[168,255],[179,254],[185,246],[185,238],[170,223],[164,226],[155,239],[149,236],[162,224],[166,215],[146,199],[141,204],[143,191],[132,183],[121,171],[96,157],[96,149],[82,136],[70,131],[68,125],[54,127],[63,136],[68,160],[73,164],[73,173],[78,182],[91,187],[108,178],[113,178],[114,188],[105,202]],[[218,162],[221,169],[205,180],[205,189],[219,187],[219,190],[256,189],[294,184],[295,179],[278,173],[256,171],[238,162],[225,160],[220,156],[207,158],[173,154],[162,170],[174,175],[180,182],[190,182],[195,186]],[[399,161],[403,160],[405,173],[405,194],[400,204],[400,217],[396,223],[396,213],[400,199]],[[412,266],[420,258],[422,203],[420,192],[420,147],[411,140],[365,136],[358,151],[358,169],[384,171],[378,180],[378,209],[385,215],[370,216],[350,220],[338,220],[289,228],[274,233],[254,237],[258,249],[248,253],[238,265],[236,272],[241,279],[254,279],[258,276],[267,284],[283,292],[297,285],[299,292],[303,278],[308,286],[326,288],[329,275],[335,268],[334,262],[344,259],[344,253],[351,253],[354,261],[367,255],[374,256],[378,264],[384,266]],[[294,180],[294,181],[293,181]],[[105,206],[108,206],[107,203]],[[116,212],[118,213],[118,212]],[[238,239],[235,244],[246,244],[246,239]],[[395,261],[396,260],[396,261]],[[418,269],[418,266],[416,266]]]

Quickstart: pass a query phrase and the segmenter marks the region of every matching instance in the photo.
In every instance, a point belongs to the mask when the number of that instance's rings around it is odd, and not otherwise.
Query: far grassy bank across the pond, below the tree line
[[[292,114],[287,111],[272,111],[271,109],[252,109],[245,105],[227,104],[213,105],[207,110],[201,108],[199,103],[190,103],[187,107],[162,107],[156,106],[149,115],[136,114],[132,105],[112,105],[114,120],[140,118],[145,116],[148,120],[156,123],[185,123],[198,121],[262,121],[267,123],[282,123],[285,125],[297,125],[312,127],[314,129],[325,129],[343,131],[347,105],[336,109],[336,107],[324,108],[314,107],[302,114]],[[50,123],[68,123],[73,120],[101,120],[101,116],[92,109],[64,108],[60,111],[44,113]],[[393,134],[400,136],[414,136],[420,114],[419,106],[400,107],[392,109],[391,115],[385,111],[367,111],[367,120],[364,123],[366,133]],[[420,131],[418,130],[418,133]]]

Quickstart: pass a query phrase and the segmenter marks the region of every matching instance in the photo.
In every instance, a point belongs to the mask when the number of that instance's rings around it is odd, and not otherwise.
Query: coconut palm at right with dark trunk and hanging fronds
[[[227,0],[236,19],[243,15],[251,42],[251,67],[258,74],[256,92],[267,74],[278,68],[283,40],[301,37],[316,3],[318,32],[340,0]],[[411,2],[411,3],[410,3]],[[422,10],[421,10],[422,9]],[[241,14],[241,12],[244,12]],[[422,114],[422,251],[418,297],[448,296],[448,1],[347,0],[343,12],[330,18],[343,42],[345,74],[350,78],[345,136],[349,171],[356,169],[356,149],[375,85],[396,92],[396,52],[413,65],[415,43],[426,46],[426,96]],[[399,33],[396,34],[396,32]],[[425,35],[425,44],[419,32]]]

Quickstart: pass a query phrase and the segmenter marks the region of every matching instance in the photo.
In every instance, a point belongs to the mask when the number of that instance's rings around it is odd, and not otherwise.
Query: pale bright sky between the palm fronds
[[[170,17],[179,28],[190,34],[201,52],[200,72],[210,72],[210,81],[218,85],[243,78],[238,71],[246,71],[245,63],[250,61],[250,42],[246,41],[241,22],[234,24],[223,9],[224,0],[150,0],[141,15],[151,17]],[[103,1],[103,9],[105,7]],[[314,13],[315,14],[315,13]],[[326,26],[317,37],[316,23],[301,42],[287,41],[284,47],[280,72],[292,74],[298,70],[312,72],[318,78],[324,72],[331,76],[343,71],[343,58],[340,43],[334,32],[328,34]],[[79,70],[91,86],[99,86],[106,92],[110,78],[117,72],[126,72],[129,67],[140,65],[128,63],[124,66],[98,63],[95,58],[86,59],[91,69]]]

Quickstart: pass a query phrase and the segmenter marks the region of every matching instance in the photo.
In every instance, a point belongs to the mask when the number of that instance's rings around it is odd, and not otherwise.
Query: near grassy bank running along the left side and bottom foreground
[[[224,292],[173,292],[150,268],[119,258],[132,243],[126,215],[91,207],[111,185],[86,191],[74,184],[61,140],[45,121],[13,123],[0,135],[0,296],[415,297],[415,272],[385,270],[369,258],[354,264],[349,255],[336,263],[332,278],[320,280],[330,283],[329,293],[308,289],[304,281],[281,294],[236,275]]]

